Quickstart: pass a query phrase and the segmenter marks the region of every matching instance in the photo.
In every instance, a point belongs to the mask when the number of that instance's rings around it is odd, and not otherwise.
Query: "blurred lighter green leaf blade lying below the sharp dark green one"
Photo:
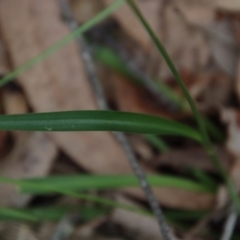
[[[214,190],[197,182],[167,175],[149,175],[148,181],[155,187],[178,188],[194,192],[214,192]],[[18,180],[22,193],[43,194],[58,191],[85,191],[90,189],[109,190],[124,187],[138,187],[137,179],[132,175],[73,175],[51,176],[37,179]]]

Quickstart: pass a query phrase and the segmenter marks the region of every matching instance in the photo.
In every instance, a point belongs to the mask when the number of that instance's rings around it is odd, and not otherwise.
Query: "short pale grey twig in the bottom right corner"
[[[221,240],[230,240],[237,223],[238,212],[234,206],[231,207],[230,212],[228,214],[227,220],[225,222],[225,226],[223,229],[223,235]]]

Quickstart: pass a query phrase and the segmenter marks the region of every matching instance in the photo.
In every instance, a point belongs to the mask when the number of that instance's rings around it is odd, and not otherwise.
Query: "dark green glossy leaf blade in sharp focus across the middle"
[[[172,120],[117,111],[68,111],[0,116],[0,130],[121,131],[189,137],[201,142],[198,131]]]

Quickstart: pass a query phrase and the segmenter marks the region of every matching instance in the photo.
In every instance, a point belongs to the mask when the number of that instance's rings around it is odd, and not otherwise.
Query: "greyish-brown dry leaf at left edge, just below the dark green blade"
[[[16,146],[0,165],[0,176],[31,178],[45,176],[57,154],[55,144],[44,133],[19,133]],[[14,186],[0,184],[0,205],[23,206],[30,196],[21,195]]]

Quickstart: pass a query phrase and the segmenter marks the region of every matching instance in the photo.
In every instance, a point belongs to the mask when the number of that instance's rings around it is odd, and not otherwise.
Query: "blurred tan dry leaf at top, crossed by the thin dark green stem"
[[[105,0],[107,5],[112,2],[113,0]],[[179,69],[184,68],[193,71],[207,64],[209,49],[204,32],[188,26],[185,19],[176,11],[178,7],[181,7],[176,4],[179,1],[135,0],[135,2],[152,26],[154,32],[161,38],[171,59]],[[190,8],[188,12],[192,14],[192,9]],[[152,41],[146,34],[146,30],[143,29],[139,20],[131,12],[127,4],[118,9],[114,13],[114,16],[128,35],[132,36],[146,52],[149,52],[149,50],[156,51]],[[171,76],[170,70],[163,63],[164,61],[159,59],[158,61],[160,78],[166,79]]]

